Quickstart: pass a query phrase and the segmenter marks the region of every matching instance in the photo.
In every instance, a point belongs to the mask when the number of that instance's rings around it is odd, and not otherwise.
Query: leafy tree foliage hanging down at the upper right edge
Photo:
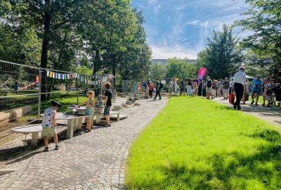
[[[281,80],[281,1],[247,0],[252,8],[237,21],[236,26],[251,34],[241,42],[246,51],[246,66],[261,75]]]

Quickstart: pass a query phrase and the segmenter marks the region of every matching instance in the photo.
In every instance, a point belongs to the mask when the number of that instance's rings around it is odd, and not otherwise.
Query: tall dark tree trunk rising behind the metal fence
[[[48,44],[50,42],[50,25],[51,25],[51,1],[45,0],[46,11],[44,13],[44,38],[41,52],[41,68],[48,66]],[[46,93],[46,70],[42,72],[41,78],[41,93]],[[41,94],[41,101],[46,101],[46,94]]]

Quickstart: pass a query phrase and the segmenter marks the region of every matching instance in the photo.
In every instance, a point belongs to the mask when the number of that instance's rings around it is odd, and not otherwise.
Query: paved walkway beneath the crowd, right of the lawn
[[[226,106],[231,106],[230,103],[228,103],[228,100],[223,100],[221,98],[213,99],[213,101],[216,101],[218,103],[222,103]],[[240,104],[241,109],[244,113],[248,113],[249,115],[254,115],[256,118],[259,118],[261,120],[265,120],[266,122],[269,122],[270,124],[277,125],[281,127],[281,108],[275,108],[271,106],[270,108],[264,107],[264,106],[255,106],[251,105],[249,101],[246,102],[246,104]]]

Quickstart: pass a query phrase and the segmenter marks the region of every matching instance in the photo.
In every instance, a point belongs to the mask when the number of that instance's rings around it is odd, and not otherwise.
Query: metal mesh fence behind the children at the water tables
[[[112,75],[78,75],[0,61],[0,133],[39,118],[51,100],[60,101],[65,110],[85,101],[90,89],[103,93],[103,84],[113,80]]]

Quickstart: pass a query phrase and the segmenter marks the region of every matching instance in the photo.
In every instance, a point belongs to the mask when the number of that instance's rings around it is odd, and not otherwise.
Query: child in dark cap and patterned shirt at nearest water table
[[[44,112],[44,118],[42,120],[42,137],[45,137],[45,149],[48,151],[48,137],[53,135],[53,140],[55,141],[55,150],[58,150],[58,136],[55,127],[58,126],[55,122],[55,114],[62,106],[57,101],[51,101],[51,107],[46,108]]]

